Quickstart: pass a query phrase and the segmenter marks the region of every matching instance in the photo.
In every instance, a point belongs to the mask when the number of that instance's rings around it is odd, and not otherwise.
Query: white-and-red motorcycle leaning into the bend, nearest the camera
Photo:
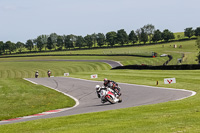
[[[102,88],[100,91],[100,98],[103,102],[110,102],[111,104],[122,102],[121,96],[115,94],[110,88]]]

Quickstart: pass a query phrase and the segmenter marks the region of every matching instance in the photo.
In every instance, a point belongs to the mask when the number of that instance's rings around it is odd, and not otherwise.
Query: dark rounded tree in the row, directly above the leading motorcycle
[[[115,31],[108,32],[106,34],[106,41],[113,47],[117,42],[117,33]]]

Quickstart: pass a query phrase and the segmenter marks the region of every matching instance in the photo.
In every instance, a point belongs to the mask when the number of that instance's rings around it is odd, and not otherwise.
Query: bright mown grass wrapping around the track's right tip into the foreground
[[[199,132],[200,70],[112,70],[97,72],[117,82],[136,83],[196,91],[193,97],[154,105],[43,119],[0,126],[3,132]],[[90,73],[74,73],[72,77],[89,79]],[[175,77],[176,84],[165,85],[163,78]],[[122,88],[123,89],[123,88]],[[134,101],[132,101],[134,102]]]

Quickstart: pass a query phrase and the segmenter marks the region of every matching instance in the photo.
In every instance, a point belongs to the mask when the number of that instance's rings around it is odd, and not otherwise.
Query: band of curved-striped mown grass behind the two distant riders
[[[1,62],[0,78],[33,78],[39,71],[39,77],[47,77],[47,71],[52,76],[63,76],[64,73],[81,71],[108,70],[108,64],[100,62],[66,62],[66,61],[10,61]]]

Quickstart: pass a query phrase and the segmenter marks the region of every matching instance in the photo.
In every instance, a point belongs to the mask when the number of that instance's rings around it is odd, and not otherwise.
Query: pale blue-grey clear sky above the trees
[[[152,24],[184,32],[200,27],[200,0],[0,0],[0,41],[40,35],[81,35],[131,30]]]

